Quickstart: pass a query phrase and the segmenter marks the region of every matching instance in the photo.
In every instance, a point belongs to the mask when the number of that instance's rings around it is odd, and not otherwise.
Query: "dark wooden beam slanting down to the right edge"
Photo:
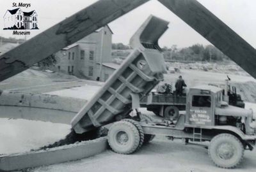
[[[158,1],[256,78],[255,49],[211,11],[196,0]]]

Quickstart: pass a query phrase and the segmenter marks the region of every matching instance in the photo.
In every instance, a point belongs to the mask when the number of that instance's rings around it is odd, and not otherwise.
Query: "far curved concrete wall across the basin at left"
[[[71,119],[84,104],[84,99],[4,91],[0,96],[0,118],[24,118],[70,124]]]

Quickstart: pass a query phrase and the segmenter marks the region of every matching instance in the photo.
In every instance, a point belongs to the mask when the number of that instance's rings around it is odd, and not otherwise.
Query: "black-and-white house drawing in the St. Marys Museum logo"
[[[4,29],[38,29],[36,11],[23,12],[20,8],[7,10],[4,14]]]

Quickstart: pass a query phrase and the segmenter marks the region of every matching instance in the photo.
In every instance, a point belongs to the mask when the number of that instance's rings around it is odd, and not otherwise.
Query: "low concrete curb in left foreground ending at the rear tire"
[[[15,171],[38,166],[83,159],[99,154],[108,148],[106,138],[83,141],[63,147],[50,148],[21,154],[0,156],[0,171]]]

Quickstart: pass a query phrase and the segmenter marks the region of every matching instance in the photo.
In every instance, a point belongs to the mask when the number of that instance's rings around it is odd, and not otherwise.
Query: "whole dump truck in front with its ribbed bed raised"
[[[223,89],[211,85],[190,88],[186,113],[176,121],[154,121],[138,110],[140,100],[164,79],[164,59],[157,40],[167,25],[154,16],[141,25],[130,41],[134,52],[72,119],[72,128],[76,133],[86,133],[111,124],[108,143],[119,154],[135,152],[158,134],[186,143],[208,141],[214,164],[235,168],[243,159],[244,150],[252,150],[255,145],[253,111],[228,105],[223,100]],[[137,111],[135,117],[130,115],[132,110]]]

